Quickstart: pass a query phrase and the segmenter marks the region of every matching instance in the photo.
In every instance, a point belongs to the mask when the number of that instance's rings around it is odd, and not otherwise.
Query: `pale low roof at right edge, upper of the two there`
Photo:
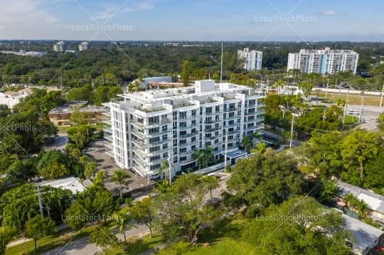
[[[340,180],[337,181],[338,188],[341,191],[341,195],[350,193],[357,197],[359,200],[366,202],[370,210],[380,212],[384,214],[384,196],[378,195],[369,190],[364,190],[363,188],[356,187],[354,185],[343,183]]]

